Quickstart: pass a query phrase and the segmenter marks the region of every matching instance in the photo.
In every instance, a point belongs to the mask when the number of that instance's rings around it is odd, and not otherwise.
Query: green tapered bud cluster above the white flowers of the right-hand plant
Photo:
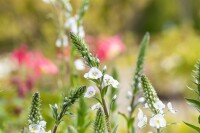
[[[145,100],[146,103],[148,104],[148,107],[154,114],[158,114],[159,111],[153,105],[157,100],[159,100],[154,87],[152,86],[151,82],[145,75],[142,75],[141,81],[142,81],[142,88],[144,91]]]

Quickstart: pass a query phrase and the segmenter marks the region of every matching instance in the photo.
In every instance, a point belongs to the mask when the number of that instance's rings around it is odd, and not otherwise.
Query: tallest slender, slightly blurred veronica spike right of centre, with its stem
[[[142,42],[140,43],[140,49],[139,49],[139,54],[138,54],[137,64],[136,64],[136,70],[135,70],[135,74],[133,77],[132,91],[128,91],[128,98],[131,100],[130,105],[128,107],[129,114],[128,114],[128,116],[126,116],[123,113],[119,113],[125,118],[126,124],[127,124],[127,129],[128,129],[129,133],[135,132],[135,129],[133,126],[135,117],[133,117],[133,113],[134,113],[136,107],[140,103],[144,102],[144,98],[143,97],[139,98],[138,93],[141,93],[141,88],[142,88],[141,76],[143,74],[145,53],[146,53],[146,49],[149,45],[149,39],[150,39],[150,35],[149,35],[149,33],[146,33],[142,39]]]

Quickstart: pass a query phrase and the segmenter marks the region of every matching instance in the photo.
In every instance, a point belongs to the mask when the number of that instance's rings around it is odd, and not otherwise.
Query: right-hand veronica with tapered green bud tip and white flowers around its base
[[[145,96],[145,108],[148,108],[152,115],[150,116],[150,120],[148,123],[147,115],[143,113],[141,109],[138,112],[138,127],[143,128],[147,124],[156,129],[156,133],[161,133],[163,129],[167,126],[167,122],[165,120],[165,104],[159,99],[155,89],[152,84],[148,80],[148,78],[144,75],[141,77],[142,88]],[[172,107],[172,104],[169,102],[167,104],[167,110],[171,113],[176,113],[176,110]],[[168,124],[170,125],[170,124]]]

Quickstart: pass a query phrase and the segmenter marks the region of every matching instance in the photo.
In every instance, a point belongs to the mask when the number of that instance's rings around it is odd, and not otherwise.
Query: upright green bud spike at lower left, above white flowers
[[[31,110],[28,116],[28,124],[38,124],[42,120],[40,105],[40,94],[36,92],[32,98]]]

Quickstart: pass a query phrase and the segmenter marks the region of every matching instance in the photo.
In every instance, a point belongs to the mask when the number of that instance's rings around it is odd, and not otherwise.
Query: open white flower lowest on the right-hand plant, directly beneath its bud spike
[[[150,119],[149,124],[156,128],[166,127],[166,120],[162,114],[157,114]]]

